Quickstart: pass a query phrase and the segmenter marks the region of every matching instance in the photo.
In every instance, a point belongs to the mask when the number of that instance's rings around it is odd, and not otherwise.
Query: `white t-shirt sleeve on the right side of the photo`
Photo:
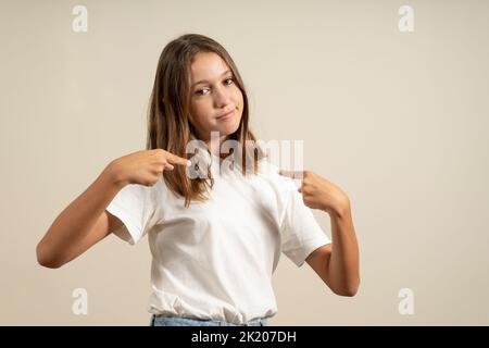
[[[302,194],[298,191],[293,179],[287,179],[285,186],[286,203],[280,224],[281,251],[300,268],[311,252],[331,240],[315,220],[311,209],[304,204]]]

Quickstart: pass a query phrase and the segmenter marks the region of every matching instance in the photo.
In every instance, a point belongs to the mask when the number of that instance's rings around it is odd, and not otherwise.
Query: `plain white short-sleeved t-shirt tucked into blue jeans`
[[[280,252],[301,266],[331,241],[275,164],[263,159],[258,175],[241,175],[239,165],[220,175],[212,158],[209,200],[185,208],[163,176],[150,187],[129,184],[106,208],[124,223],[114,234],[131,245],[148,234],[150,313],[238,324],[271,318]]]

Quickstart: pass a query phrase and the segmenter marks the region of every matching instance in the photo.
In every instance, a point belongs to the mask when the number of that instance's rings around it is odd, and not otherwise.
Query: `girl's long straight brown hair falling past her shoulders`
[[[176,156],[188,158],[186,146],[198,139],[196,128],[189,117],[190,105],[190,65],[199,52],[214,52],[229,66],[235,84],[242,92],[243,108],[238,129],[229,139],[239,141],[243,156],[242,169],[247,174],[246,141],[255,144],[255,137],[249,128],[249,104],[242,78],[226,49],[215,40],[199,34],[186,34],[170,41],[163,49],[158,62],[156,76],[150,98],[148,114],[147,150],[163,149]],[[253,172],[256,174],[258,160],[263,154],[260,148],[253,148]],[[177,197],[185,197],[185,207],[192,199],[204,201],[212,189],[214,179],[208,167],[209,178],[190,179],[186,169],[175,165],[174,170],[163,172],[163,178],[170,190]]]

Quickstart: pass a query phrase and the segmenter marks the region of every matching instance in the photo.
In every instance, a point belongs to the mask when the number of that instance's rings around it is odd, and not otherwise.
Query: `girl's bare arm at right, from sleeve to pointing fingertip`
[[[359,245],[347,194],[311,171],[279,174],[301,178],[298,190],[304,204],[329,214],[333,243],[314,250],[305,261],[335,294],[354,296],[360,286]]]

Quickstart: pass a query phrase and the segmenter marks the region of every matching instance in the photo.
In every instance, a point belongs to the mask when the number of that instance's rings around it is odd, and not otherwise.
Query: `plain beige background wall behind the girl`
[[[72,9],[88,9],[74,33]],[[414,33],[398,10],[414,9]],[[3,325],[148,325],[150,253],[114,236],[59,270],[35,246],[113,159],[143,149],[159,54],[185,33],[228,49],[262,139],[353,204],[362,284],[333,295],[284,254],[271,325],[489,324],[487,1],[1,1]],[[314,212],[330,235],[329,219]],[[72,291],[86,288],[88,315]],[[401,315],[401,288],[414,314]]]

